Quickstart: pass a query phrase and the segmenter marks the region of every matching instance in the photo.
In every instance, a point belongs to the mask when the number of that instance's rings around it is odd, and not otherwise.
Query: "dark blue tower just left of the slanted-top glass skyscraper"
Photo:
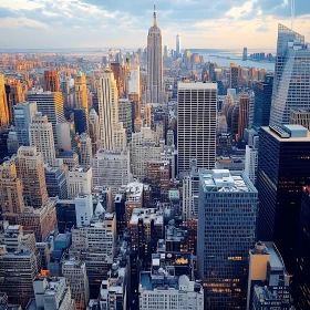
[[[268,126],[272,96],[273,76],[266,76],[265,82],[258,82],[255,87],[254,121],[252,127],[258,131],[261,126]]]

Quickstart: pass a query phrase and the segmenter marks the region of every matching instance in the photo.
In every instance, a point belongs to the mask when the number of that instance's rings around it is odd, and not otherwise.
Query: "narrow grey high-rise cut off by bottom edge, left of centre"
[[[75,309],[86,309],[90,300],[90,288],[85,262],[74,257],[65,258],[62,262],[62,275],[70,286]]]

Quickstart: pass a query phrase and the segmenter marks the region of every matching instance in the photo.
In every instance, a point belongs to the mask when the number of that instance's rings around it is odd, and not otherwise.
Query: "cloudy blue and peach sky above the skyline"
[[[146,45],[151,0],[0,0],[0,48]],[[273,49],[277,24],[290,27],[290,0],[156,0],[164,44]],[[296,0],[294,30],[310,41],[310,1]]]

